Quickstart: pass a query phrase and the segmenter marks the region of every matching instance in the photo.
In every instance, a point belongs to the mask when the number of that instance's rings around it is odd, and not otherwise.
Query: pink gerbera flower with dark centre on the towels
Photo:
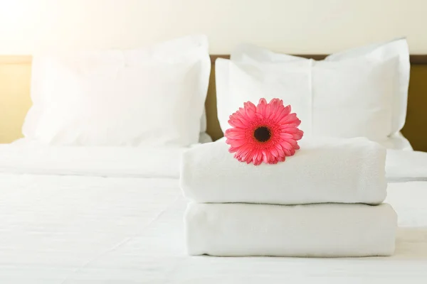
[[[270,103],[260,99],[256,107],[246,102],[228,120],[233,126],[225,133],[226,143],[231,146],[228,151],[241,162],[254,165],[283,162],[300,148],[300,123],[297,114],[291,114],[290,106],[283,106],[281,99],[272,99]]]

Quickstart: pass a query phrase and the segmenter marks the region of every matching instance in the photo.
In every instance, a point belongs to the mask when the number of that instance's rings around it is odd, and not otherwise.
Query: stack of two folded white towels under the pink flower
[[[305,138],[284,163],[241,163],[225,141],[184,153],[191,255],[389,256],[397,217],[386,150],[365,138]]]

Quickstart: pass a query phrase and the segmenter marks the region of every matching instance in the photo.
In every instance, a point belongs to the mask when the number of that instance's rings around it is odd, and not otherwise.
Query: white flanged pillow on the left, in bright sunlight
[[[50,145],[189,146],[199,141],[210,66],[204,35],[35,56],[23,134]]]

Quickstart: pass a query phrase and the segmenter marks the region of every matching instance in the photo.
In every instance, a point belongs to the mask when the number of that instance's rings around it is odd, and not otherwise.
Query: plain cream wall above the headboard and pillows
[[[427,53],[427,0],[0,0],[0,54],[133,48],[190,33],[211,53],[241,41],[332,53],[406,35]]]

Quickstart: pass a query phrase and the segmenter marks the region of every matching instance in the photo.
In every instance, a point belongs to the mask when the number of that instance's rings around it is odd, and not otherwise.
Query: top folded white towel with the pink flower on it
[[[181,188],[196,202],[367,203],[386,197],[386,150],[366,138],[305,138],[276,165],[241,163],[225,141],[196,146],[181,160]]]

